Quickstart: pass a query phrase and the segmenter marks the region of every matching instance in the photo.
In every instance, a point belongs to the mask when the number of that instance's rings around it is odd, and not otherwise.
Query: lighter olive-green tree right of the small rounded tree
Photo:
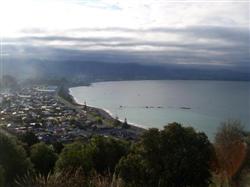
[[[81,142],[74,142],[64,147],[56,162],[57,171],[76,170],[81,168],[84,174],[93,169],[92,148]]]

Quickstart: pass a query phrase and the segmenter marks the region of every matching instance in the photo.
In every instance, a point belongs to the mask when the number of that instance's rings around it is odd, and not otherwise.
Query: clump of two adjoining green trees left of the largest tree
[[[122,156],[129,151],[128,143],[96,136],[88,144],[75,142],[66,145],[56,163],[58,171],[81,168],[86,175],[112,173]]]

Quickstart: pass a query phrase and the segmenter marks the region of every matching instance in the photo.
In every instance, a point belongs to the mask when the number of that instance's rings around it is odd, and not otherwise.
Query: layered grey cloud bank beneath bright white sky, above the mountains
[[[35,30],[33,30],[35,34]],[[21,46],[8,46],[13,54],[36,58],[42,56],[48,59],[81,59],[110,62],[136,62],[136,63],[159,63],[177,64],[190,63],[197,65],[216,63],[222,66],[249,67],[249,29],[219,26],[196,26],[187,28],[151,28],[151,29],[128,29],[128,28],[80,28],[73,31],[84,33],[85,31],[113,31],[128,33],[174,33],[181,36],[182,41],[144,41],[143,35],[138,38],[130,37],[66,37],[66,36],[27,36],[19,39]],[[200,43],[199,39],[206,42]],[[37,41],[64,41],[72,42],[73,49],[68,46],[57,47],[36,46]],[[23,42],[23,43],[22,43]],[[34,45],[34,46],[32,46]],[[155,50],[136,51],[134,47],[150,46]],[[75,48],[74,48],[75,47]],[[77,48],[84,50],[76,50]],[[102,50],[90,50],[91,47],[103,47]],[[160,47],[162,49],[157,49]],[[116,50],[119,48],[119,50]],[[174,50],[173,50],[174,48]],[[158,51],[157,51],[158,50]]]

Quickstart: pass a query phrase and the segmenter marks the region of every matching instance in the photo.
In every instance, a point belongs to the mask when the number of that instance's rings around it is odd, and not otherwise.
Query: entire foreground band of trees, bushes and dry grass
[[[237,121],[204,133],[172,123],[139,141],[102,136],[62,145],[0,132],[0,187],[246,187],[249,136]]]

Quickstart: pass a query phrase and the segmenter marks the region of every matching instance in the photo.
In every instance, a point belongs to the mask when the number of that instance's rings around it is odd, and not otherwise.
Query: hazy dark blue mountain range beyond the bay
[[[109,80],[187,79],[249,81],[246,68],[197,67],[183,65],[145,65],[88,61],[47,61],[7,59],[4,73],[21,80],[66,79],[70,82]]]

